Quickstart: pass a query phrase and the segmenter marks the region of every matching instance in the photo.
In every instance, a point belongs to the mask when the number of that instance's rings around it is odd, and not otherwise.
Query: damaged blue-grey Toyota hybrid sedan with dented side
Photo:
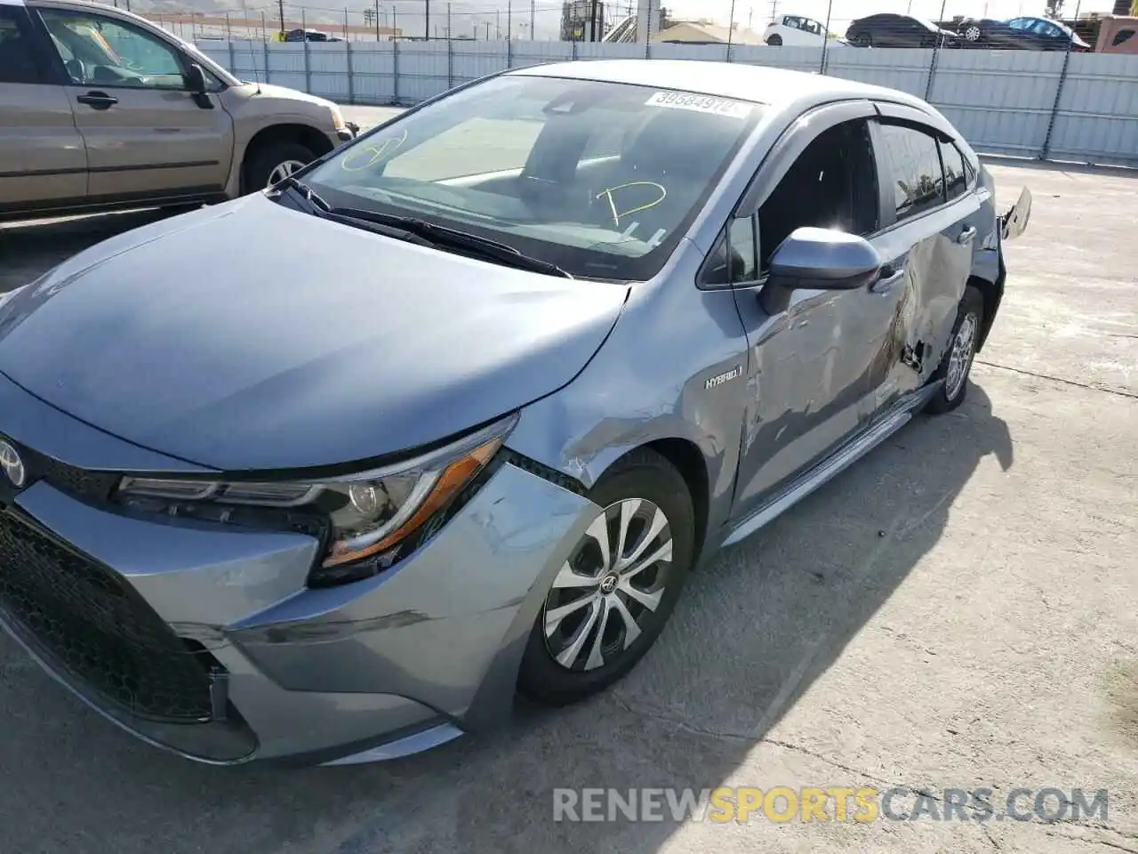
[[[960,404],[1030,200],[860,83],[462,87],[3,297],[0,619],[209,763],[592,695],[717,549]]]

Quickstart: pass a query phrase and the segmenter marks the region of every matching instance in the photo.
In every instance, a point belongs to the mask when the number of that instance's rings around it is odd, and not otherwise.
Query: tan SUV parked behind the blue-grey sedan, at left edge
[[[0,0],[0,220],[233,198],[356,131],[138,15]]]

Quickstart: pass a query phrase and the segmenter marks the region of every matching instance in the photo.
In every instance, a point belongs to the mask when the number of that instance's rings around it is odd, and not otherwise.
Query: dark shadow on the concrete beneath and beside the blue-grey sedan
[[[937,545],[989,454],[1013,465],[1008,428],[973,385],[962,410],[916,419],[693,577],[657,647],[610,692],[381,765],[215,770],[172,758],[113,730],[0,642],[8,845],[119,854],[655,852],[677,828],[670,816],[554,823],[553,789],[715,788]],[[897,678],[884,662],[865,674]]]

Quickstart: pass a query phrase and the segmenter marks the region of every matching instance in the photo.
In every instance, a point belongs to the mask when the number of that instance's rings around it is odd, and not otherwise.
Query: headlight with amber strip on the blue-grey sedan
[[[310,584],[356,581],[382,572],[424,533],[481,471],[517,424],[510,416],[445,447],[358,475],[319,481],[256,482],[124,477],[115,492],[126,506],[222,522],[275,508],[327,522],[328,549]],[[157,503],[157,507],[156,507]]]

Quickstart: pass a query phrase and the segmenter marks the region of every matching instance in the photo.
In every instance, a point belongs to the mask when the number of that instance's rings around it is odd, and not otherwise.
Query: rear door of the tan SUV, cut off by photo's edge
[[[26,8],[0,5],[0,213],[86,195],[83,138],[49,51]]]

